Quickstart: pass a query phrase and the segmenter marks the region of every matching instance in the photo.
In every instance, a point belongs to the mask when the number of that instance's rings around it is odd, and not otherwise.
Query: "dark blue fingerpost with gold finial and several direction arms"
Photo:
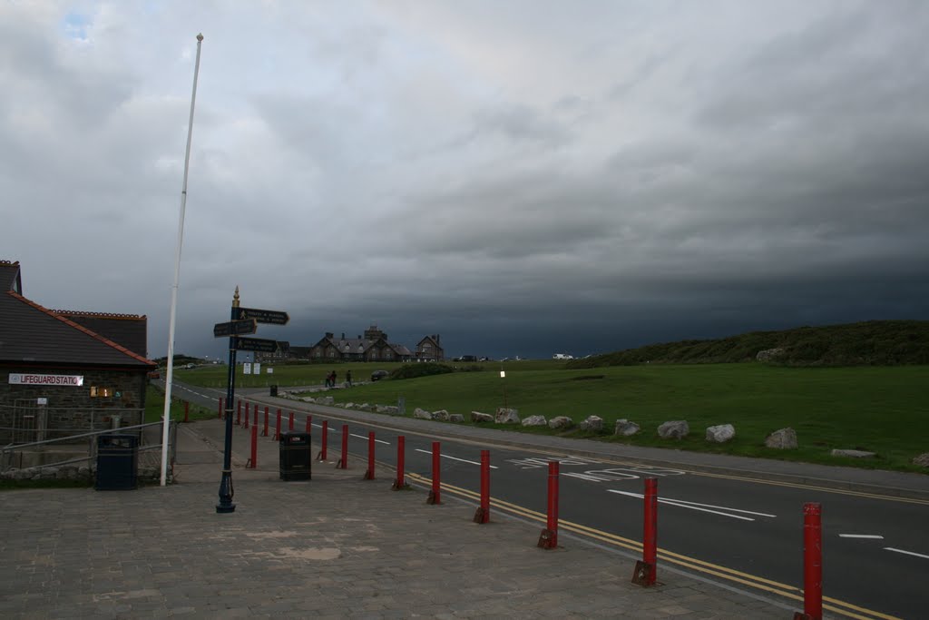
[[[255,334],[255,323],[286,325],[290,321],[287,312],[278,310],[255,310],[239,307],[239,287],[232,297],[229,323],[216,323],[213,336],[229,336],[229,383],[226,389],[226,442],[223,453],[223,476],[219,481],[219,503],[216,512],[234,512],[232,503],[232,403],[235,402],[235,357],[236,350],[251,350],[273,353],[278,350],[276,340],[267,338],[245,338],[242,334]]]

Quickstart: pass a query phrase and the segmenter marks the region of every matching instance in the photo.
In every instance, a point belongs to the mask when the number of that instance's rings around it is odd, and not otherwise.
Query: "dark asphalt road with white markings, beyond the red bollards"
[[[175,385],[175,395],[216,406],[218,390]],[[268,403],[267,390],[237,395]],[[271,402],[273,412],[277,405]],[[262,412],[265,403],[262,404]],[[560,463],[559,537],[582,535],[640,557],[644,480],[659,489],[659,579],[674,567],[732,587],[793,600],[802,608],[803,507],[818,502],[823,513],[823,592],[827,614],[856,618],[920,618],[929,609],[929,501],[810,487],[784,481],[712,475],[686,467],[655,468],[626,458],[590,458],[517,449],[473,437],[455,438],[453,425],[425,431],[390,429],[390,416],[373,422],[352,412],[288,402],[294,429],[313,416],[314,442],[329,423],[329,460],[340,457],[341,432],[349,428],[349,458],[366,459],[368,432],[376,434],[376,459],[393,467],[397,436],[405,436],[408,481],[431,481],[432,442],[440,441],[443,495],[477,502],[480,451],[491,450],[491,518],[505,511],[544,525],[548,462]],[[261,421],[263,422],[263,413]],[[383,418],[383,419],[382,419]],[[286,418],[285,418],[286,419]],[[284,424],[286,426],[286,423]],[[434,431],[432,429],[435,429]],[[273,433],[273,429],[271,431]],[[429,436],[431,433],[436,436]],[[439,438],[438,435],[441,435]],[[526,442],[531,442],[531,436]],[[381,472],[379,477],[385,477]],[[393,474],[389,474],[393,475]],[[564,542],[562,542],[564,544]]]

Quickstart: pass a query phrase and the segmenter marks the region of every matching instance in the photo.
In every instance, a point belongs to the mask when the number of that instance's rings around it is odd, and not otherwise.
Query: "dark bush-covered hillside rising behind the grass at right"
[[[929,363],[929,321],[868,321],[681,340],[574,360],[567,367],[739,362],[796,366]]]

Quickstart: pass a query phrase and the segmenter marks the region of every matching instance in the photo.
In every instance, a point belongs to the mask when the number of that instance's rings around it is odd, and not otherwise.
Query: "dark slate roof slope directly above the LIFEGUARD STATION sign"
[[[0,291],[0,363],[157,364],[12,290]]]

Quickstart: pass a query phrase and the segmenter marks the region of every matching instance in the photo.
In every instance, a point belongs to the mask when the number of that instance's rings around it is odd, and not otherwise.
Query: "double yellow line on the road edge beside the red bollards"
[[[419,474],[407,473],[407,477],[410,480],[420,484],[432,484],[431,479]],[[447,482],[441,483],[441,489],[442,491],[451,493],[452,495],[460,495],[467,499],[477,500],[478,502],[480,501],[480,494],[469,489],[464,489],[459,486],[448,484]],[[525,508],[523,506],[519,506],[518,504],[512,504],[495,497],[491,497],[491,508],[503,510],[510,514],[515,514],[519,517],[523,517],[531,521],[539,521],[541,523],[545,523],[547,521],[546,515],[544,515],[542,512],[537,512],[535,510],[531,510],[530,508]],[[613,547],[623,547],[631,551],[635,551],[636,553],[642,552],[642,543],[637,540],[624,538],[620,535],[610,534],[609,532],[604,532],[602,530],[596,530],[595,528],[582,525],[581,523],[574,523],[571,521],[559,519],[558,528],[574,534],[581,534],[582,536],[593,538],[600,542],[607,543],[608,545],[612,545]],[[681,555],[680,553],[674,553],[674,551],[663,549],[661,547],[658,549],[658,557],[661,561],[666,561],[670,564],[681,566],[698,573],[711,574],[715,577],[719,577],[721,579],[725,579],[726,581],[734,582],[742,586],[763,590],[769,594],[775,594],[787,599],[797,600],[801,603],[804,600],[804,591],[799,587],[788,586],[787,584],[782,584],[778,581],[773,581],[771,579],[765,579],[764,577],[758,577],[753,574],[742,573],[731,568],[726,568],[726,566],[720,566],[719,564],[713,564],[708,561],[690,558],[688,556]],[[853,605],[852,603],[845,602],[844,600],[832,599],[831,597],[823,597],[822,600],[823,609],[835,613],[842,613],[848,617],[856,618],[857,620],[874,620],[875,618],[880,618],[881,620],[900,620],[894,615],[888,615],[886,613],[876,612],[864,607],[859,607],[857,605]]]

